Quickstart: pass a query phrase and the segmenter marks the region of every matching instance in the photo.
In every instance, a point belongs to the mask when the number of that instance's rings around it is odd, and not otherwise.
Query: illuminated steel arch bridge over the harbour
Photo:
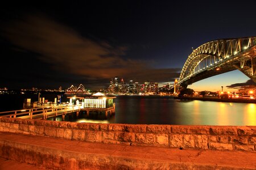
[[[240,70],[256,83],[256,37],[207,42],[188,56],[177,84],[189,84],[210,76]]]

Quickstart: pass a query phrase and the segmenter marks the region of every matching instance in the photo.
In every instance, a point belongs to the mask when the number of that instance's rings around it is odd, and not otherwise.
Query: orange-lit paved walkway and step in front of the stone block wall
[[[0,154],[55,169],[256,169],[256,152],[110,145],[2,132]]]

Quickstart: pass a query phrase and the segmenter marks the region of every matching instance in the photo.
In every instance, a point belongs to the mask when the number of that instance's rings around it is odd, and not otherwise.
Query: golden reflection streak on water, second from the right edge
[[[218,125],[230,125],[229,118],[228,118],[228,107],[226,103],[219,104],[219,107],[217,110],[217,116],[218,116]]]

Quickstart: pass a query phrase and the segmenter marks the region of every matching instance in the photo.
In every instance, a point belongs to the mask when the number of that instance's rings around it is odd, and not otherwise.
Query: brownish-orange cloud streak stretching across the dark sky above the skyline
[[[43,15],[13,20],[1,29],[1,35],[18,46],[18,50],[35,53],[38,62],[46,63],[51,70],[79,76],[88,80],[87,83],[114,76],[139,82],[172,81],[181,70],[153,69],[150,62],[125,58],[127,46],[112,46],[107,41],[82,37],[75,30]]]

